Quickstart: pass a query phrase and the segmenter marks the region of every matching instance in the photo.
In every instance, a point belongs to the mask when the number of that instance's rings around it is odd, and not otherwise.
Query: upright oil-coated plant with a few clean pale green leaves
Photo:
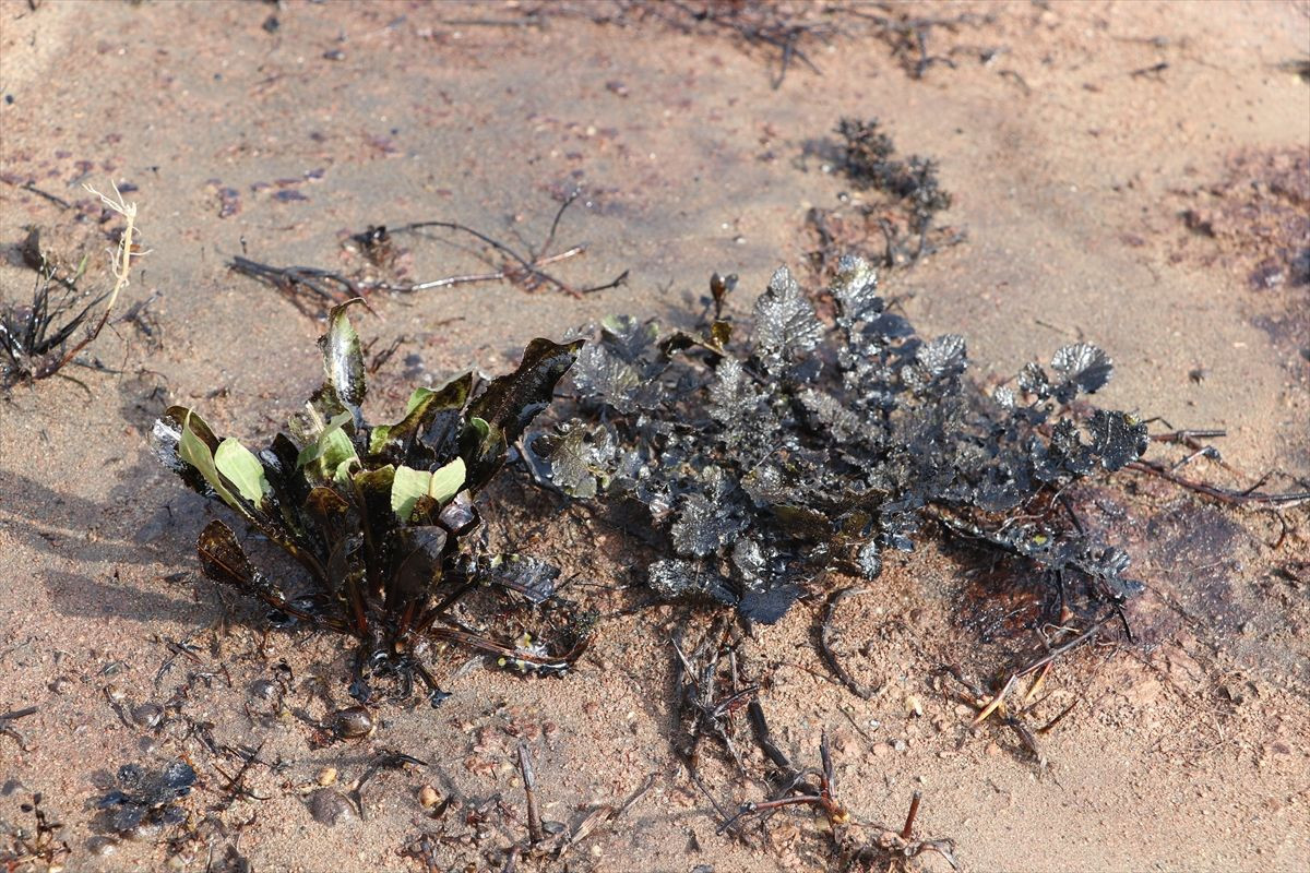
[[[434,705],[444,699],[421,658],[432,640],[493,653],[521,670],[566,669],[586,643],[587,616],[554,598],[554,567],[483,552],[474,497],[550,402],[580,343],[534,339],[516,370],[481,390],[465,373],[438,389],[417,389],[394,424],[369,424],[348,305],[331,310],[320,339],[322,387],[292,419],[290,435],[279,433],[258,454],[219,438],[189,408],[172,407],[156,421],[161,461],[282,547],[309,585],[293,592],[288,573],[255,569],[221,521],[200,533],[204,572],[265,601],[278,622],[356,637],[352,694],[365,702],[369,674],[397,681],[402,696],[418,677]],[[521,624],[514,626],[512,641],[493,639],[494,630],[458,613],[487,589],[525,601],[534,620],[562,630],[550,643]],[[516,613],[498,610],[506,614]]]

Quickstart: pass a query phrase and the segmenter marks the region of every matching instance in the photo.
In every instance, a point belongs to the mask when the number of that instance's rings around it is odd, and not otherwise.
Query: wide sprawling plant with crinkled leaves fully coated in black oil
[[[964,339],[918,336],[865,260],[841,260],[832,323],[779,268],[741,342],[728,287],[711,281],[701,332],[607,319],[574,368],[576,408],[528,440],[557,488],[646,507],[673,552],[650,565],[656,592],[776,622],[807,581],[874,579],[930,525],[1036,561],[1061,606],[1066,590],[1111,605],[1136,590],[1127,555],[1055,503],[1146,449],[1137,418],[1078,401],[1111,377],[1099,348],[1066,346],[986,393],[965,378]]]

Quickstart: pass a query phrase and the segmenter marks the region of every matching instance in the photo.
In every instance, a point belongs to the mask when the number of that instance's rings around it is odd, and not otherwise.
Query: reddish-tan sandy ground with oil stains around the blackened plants
[[[680,318],[715,270],[753,293],[802,262],[806,211],[836,207],[846,187],[812,147],[844,115],[878,116],[903,152],[941,162],[955,195],[946,220],[968,234],[887,277],[924,332],[967,334],[984,378],[1086,338],[1117,364],[1104,404],[1225,428],[1224,457],[1246,482],[1310,475],[1310,291],[1293,263],[1307,247],[1296,220],[1310,204],[1310,82],[1285,67],[1310,55],[1305,4],[930,7],[921,13],[977,14],[929,34],[954,67],[916,80],[849,21],[850,35],[802,43],[819,73],[794,63],[777,89],[765,46],[713,27],[597,24],[595,9],[0,3],[0,294],[30,291],[16,247],[26,225],[72,260],[92,253],[93,270],[115,226],[18,186],[76,204],[83,182],[109,181],[132,186],[149,249],[130,298],[159,293],[155,336],[119,325],[97,343],[122,373],[79,372],[89,397],[47,380],[0,402],[0,711],[38,708],[13,722],[20,738],[0,736],[0,819],[24,825],[18,804],[43,792],[68,869],[238,869],[237,856],[259,870],[424,869],[401,853],[424,834],[431,869],[502,869],[524,832],[520,738],[542,815],[570,827],[652,780],[563,860],[520,869],[828,863],[803,809],[749,843],[715,832],[673,750],[668,647],[676,626],[706,632],[710,613],[625,611],[630,546],[586,516],[544,526],[550,501],[514,479],[493,495],[495,537],[593,580],[614,613],[578,671],[519,679],[452,653],[455,696],[385,709],[364,741],[325,742],[269,715],[252,695],[261,679],[291,677],[288,702],[310,719],[345,705],[345,653],[266,632],[259,610],[200,577],[194,538],[211,510],[145,445],[169,401],[199,406],[220,432],[269,436],[318,380],[320,322],[231,274],[236,254],[334,267],[343,232],[424,219],[540,240],[553,195],[584,186],[561,240],[587,253],[558,275],[583,285],[627,270],[630,281],[580,300],[508,284],[380,297],[360,327],[379,347],[406,338],[376,380],[375,402],[394,404],[414,378],[500,369],[531,336],[597,315]],[[1293,274],[1271,279],[1268,258]],[[457,250],[414,246],[418,279],[470,267]],[[1148,593],[1131,614],[1137,644],[1055,671],[1048,717],[1081,703],[1041,738],[1045,766],[1001,728],[971,730],[941,675],[960,664],[989,681],[1010,649],[993,639],[1000,607],[979,594],[977,556],[931,548],[840,616],[852,670],[879,688],[871,700],[815,652],[821,598],[744,643],[781,743],[816,762],[827,730],[840,796],[866,819],[899,825],[921,789],[920,834],[954,838],[969,870],[1306,869],[1305,512],[1280,522],[1131,479],[1095,503],[1098,524],[1134,547]],[[174,657],[178,640],[199,648]],[[134,720],[145,703],[165,707],[161,724]],[[224,774],[240,762],[202,737],[259,749],[253,796],[232,800]],[[304,797],[320,774],[335,768],[348,788],[384,749],[427,766],[371,780],[367,821],[317,822]],[[93,806],[106,776],[178,755],[200,774],[185,802],[200,834],[105,839]],[[713,746],[701,767],[726,808],[761,796]],[[441,815],[419,805],[423,785],[451,798]]]

